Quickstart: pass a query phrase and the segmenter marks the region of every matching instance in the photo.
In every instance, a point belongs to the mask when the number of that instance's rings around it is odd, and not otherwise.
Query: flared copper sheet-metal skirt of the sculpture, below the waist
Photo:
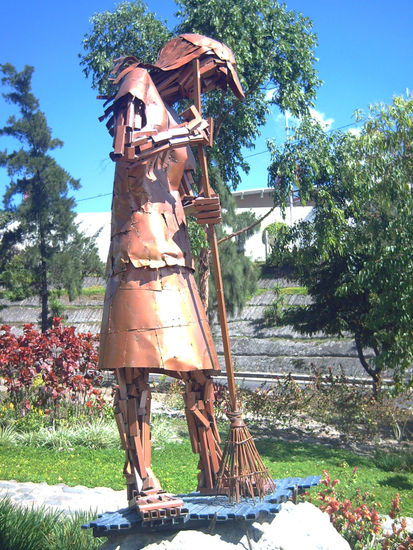
[[[207,316],[190,269],[135,268],[108,281],[99,368],[219,370]]]

